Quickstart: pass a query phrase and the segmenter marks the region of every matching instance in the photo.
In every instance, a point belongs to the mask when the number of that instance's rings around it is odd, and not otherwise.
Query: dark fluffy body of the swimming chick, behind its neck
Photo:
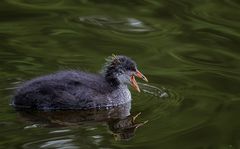
[[[12,104],[36,109],[94,108],[115,90],[102,75],[63,71],[22,84]]]

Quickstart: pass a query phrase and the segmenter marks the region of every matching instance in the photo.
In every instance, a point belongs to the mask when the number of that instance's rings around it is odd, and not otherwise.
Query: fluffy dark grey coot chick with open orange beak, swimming
[[[15,92],[12,105],[38,110],[114,107],[131,101],[130,84],[140,92],[135,76],[147,81],[129,57],[108,57],[99,74],[61,71],[27,81]]]

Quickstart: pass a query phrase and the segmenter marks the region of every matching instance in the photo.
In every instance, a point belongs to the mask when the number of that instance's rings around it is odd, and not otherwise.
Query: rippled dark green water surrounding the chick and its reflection
[[[0,148],[239,149],[239,10],[238,0],[2,0]],[[148,123],[130,140],[104,122],[38,127],[9,106],[19,83],[98,72],[112,53],[175,94],[132,91],[131,113]]]

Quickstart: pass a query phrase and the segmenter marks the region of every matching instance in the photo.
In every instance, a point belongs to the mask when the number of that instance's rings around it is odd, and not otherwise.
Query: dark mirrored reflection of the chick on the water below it
[[[85,123],[105,123],[116,140],[129,140],[148,121],[137,122],[141,113],[131,115],[131,103],[108,109],[32,111],[17,109],[24,121],[40,127],[80,127]],[[36,126],[36,125],[34,125]]]

